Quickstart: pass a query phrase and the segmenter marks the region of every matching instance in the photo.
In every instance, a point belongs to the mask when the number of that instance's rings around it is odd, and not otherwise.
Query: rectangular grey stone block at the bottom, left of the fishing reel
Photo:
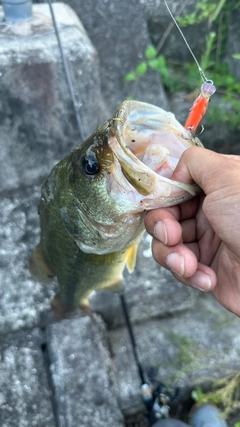
[[[124,427],[100,318],[53,324],[47,343],[58,425]]]

